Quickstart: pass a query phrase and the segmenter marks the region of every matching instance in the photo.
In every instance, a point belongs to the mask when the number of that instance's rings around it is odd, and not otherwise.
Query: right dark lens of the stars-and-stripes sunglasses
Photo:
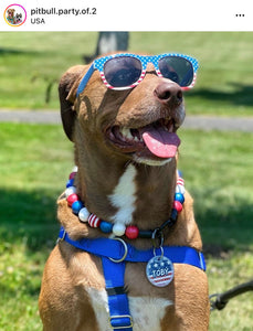
[[[181,87],[191,85],[194,72],[190,61],[178,56],[166,56],[159,60],[158,65],[164,77],[176,82]]]

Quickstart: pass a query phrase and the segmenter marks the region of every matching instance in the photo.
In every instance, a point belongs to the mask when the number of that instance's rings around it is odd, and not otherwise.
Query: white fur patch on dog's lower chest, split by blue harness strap
[[[87,291],[91,297],[99,330],[112,331],[106,291],[92,288]],[[134,331],[160,331],[160,322],[165,317],[166,308],[172,305],[171,301],[150,297],[128,297],[128,300]]]

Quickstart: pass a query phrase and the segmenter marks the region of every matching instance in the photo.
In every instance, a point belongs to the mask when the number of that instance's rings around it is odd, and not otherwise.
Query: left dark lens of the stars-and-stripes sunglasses
[[[130,56],[118,56],[104,64],[104,75],[113,87],[127,87],[136,83],[141,75],[141,63]]]

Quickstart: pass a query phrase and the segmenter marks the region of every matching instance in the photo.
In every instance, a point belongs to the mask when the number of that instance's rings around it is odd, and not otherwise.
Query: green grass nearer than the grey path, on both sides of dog
[[[250,134],[179,131],[179,168],[196,201],[210,292],[252,278]],[[41,330],[38,296],[57,235],[55,200],[73,166],[60,126],[0,124],[0,330]],[[42,143],[43,141],[43,143]],[[252,292],[211,314],[211,331],[253,330]]]

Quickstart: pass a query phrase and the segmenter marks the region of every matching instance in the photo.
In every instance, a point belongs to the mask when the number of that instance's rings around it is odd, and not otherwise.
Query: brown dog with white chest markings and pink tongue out
[[[134,88],[107,88],[94,72],[76,97],[87,70],[87,66],[72,67],[61,79],[63,126],[74,142],[77,194],[91,213],[107,224],[119,224],[113,233],[116,237],[122,235],[120,242],[113,239],[112,233],[81,222],[64,194],[59,199],[59,220],[75,242],[108,238],[105,250],[110,242],[123,248],[124,289],[114,288],[113,293],[105,290],[103,252],[92,254],[88,248],[78,249],[63,237],[43,275],[39,302],[43,330],[208,330],[208,281],[200,267],[176,261],[170,284],[159,287],[148,280],[149,261],[127,261],[126,257],[127,250],[135,248],[154,252],[154,256],[160,252],[164,261],[167,246],[187,246],[197,253],[202,249],[188,192],[182,211],[177,220],[171,218],[178,179],[176,131],[185,119],[181,87],[158,76],[149,63],[143,81]],[[156,132],[164,140],[157,142]],[[166,222],[168,218],[173,222]],[[134,228],[134,233],[124,235],[120,233],[124,228]],[[143,236],[137,236],[136,229]],[[109,317],[108,297],[124,293],[128,299],[130,324],[112,329],[110,322],[118,317],[112,318],[112,312]]]

